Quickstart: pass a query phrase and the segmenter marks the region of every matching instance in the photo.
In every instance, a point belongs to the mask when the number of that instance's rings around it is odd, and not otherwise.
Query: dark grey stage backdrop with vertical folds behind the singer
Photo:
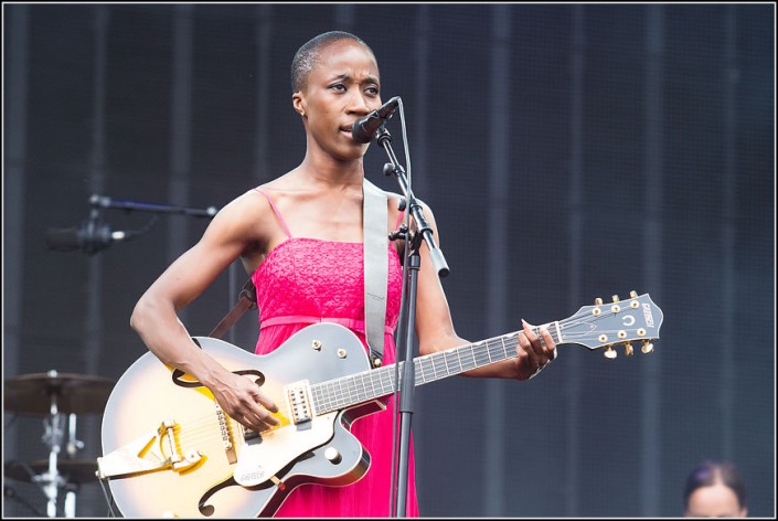
[[[420,509],[436,517],[673,517],[702,458],[775,515],[775,8],[771,4],[3,4],[3,378],[116,380],[132,307],[206,219],[159,214],[94,255],[46,248],[88,198],[221,208],[299,163],[289,64],[309,38],[373,47],[405,109],[415,193],[473,341],[649,293],[652,354],[562,347],[525,383],[422,386]],[[390,121],[404,163],[401,117]],[[384,178],[375,145],[367,177]],[[153,213],[106,209],[113,230]],[[246,275],[182,320],[206,334]],[[230,339],[253,349],[256,318]],[[99,456],[100,415],[78,417]],[[3,461],[45,459],[42,417],[3,415]],[[3,513],[45,513],[6,479]],[[9,496],[11,495],[11,497]],[[174,491],[171,491],[174,493]],[[108,512],[98,483],[77,515]]]

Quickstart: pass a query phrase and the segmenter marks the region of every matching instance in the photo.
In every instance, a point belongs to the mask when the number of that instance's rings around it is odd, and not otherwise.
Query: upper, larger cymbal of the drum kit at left
[[[89,414],[105,410],[115,382],[88,374],[22,374],[6,380],[3,407],[22,414],[50,414],[52,397],[60,413]]]

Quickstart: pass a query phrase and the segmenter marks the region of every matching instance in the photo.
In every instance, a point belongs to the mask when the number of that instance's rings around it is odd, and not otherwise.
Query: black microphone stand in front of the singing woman
[[[448,275],[448,265],[440,252],[440,248],[435,244],[433,238],[433,230],[424,216],[424,210],[416,200],[407,178],[405,170],[397,161],[397,157],[392,149],[392,136],[386,130],[385,125],[381,125],[376,135],[376,141],[382,147],[390,159],[390,163],[384,166],[384,174],[394,174],[399,183],[399,188],[405,195],[408,213],[413,216],[416,223],[416,231],[411,232],[407,226],[401,227],[398,233],[393,233],[391,238],[405,238],[405,269],[403,269],[403,306],[398,323],[398,341],[396,366],[402,366],[399,375],[399,401],[396,403],[396,411],[399,415],[399,454],[398,459],[393,462],[393,483],[396,487],[396,502],[394,506],[394,515],[404,518],[406,514],[407,503],[407,485],[408,485],[408,454],[411,446],[411,419],[414,412],[414,387],[416,386],[415,366],[413,358],[413,336],[415,331],[416,317],[416,291],[418,270],[422,265],[419,256],[419,246],[422,238],[427,243],[430,258],[438,276],[445,277]],[[397,414],[397,413],[395,413]],[[393,490],[394,492],[394,490]]]

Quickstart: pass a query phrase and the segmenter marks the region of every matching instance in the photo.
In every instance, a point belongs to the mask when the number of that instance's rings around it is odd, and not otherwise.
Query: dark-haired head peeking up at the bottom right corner
[[[686,478],[683,491],[688,518],[745,518],[746,488],[729,461],[706,459]]]

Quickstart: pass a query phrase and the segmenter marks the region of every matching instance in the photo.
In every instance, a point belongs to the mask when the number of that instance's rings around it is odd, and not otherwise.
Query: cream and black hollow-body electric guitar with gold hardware
[[[557,345],[590,350],[631,341],[652,349],[663,315],[648,294],[582,307],[545,326]],[[540,329],[539,327],[534,328]],[[414,359],[416,385],[515,358],[519,331]],[[370,455],[351,434],[359,417],[385,408],[395,364],[371,369],[364,345],[335,323],[309,326],[276,351],[256,355],[222,340],[193,337],[211,357],[256,381],[278,405],[279,426],[245,429],[191,375],[151,352],[117,381],[103,416],[98,476],[125,517],[273,515],[307,483],[349,485]],[[401,362],[402,373],[404,362]]]

